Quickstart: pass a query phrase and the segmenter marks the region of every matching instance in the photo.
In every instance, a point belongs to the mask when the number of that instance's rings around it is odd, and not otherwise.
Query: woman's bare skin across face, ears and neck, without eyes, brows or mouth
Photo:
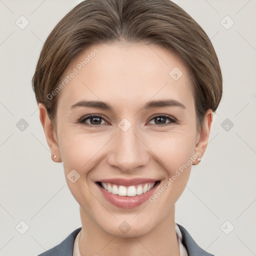
[[[156,45],[93,45],[72,59],[62,78],[95,48],[99,53],[59,92],[55,129],[44,106],[38,104],[48,146],[57,156],[52,160],[63,162],[67,185],[80,205],[80,254],[178,256],[174,203],[185,188],[191,164],[154,202],[147,200],[131,209],[109,203],[94,182],[146,177],[161,180],[161,187],[189,157],[198,151],[199,157],[204,154],[212,110],[207,110],[201,130],[196,130],[188,68],[176,54]],[[173,67],[183,73],[176,81],[169,75]],[[107,102],[113,110],[70,109],[84,99]],[[162,99],[177,100],[185,108],[142,109],[147,101]],[[99,126],[78,123],[89,114],[102,116],[96,119]],[[177,122],[168,118],[157,122],[154,117],[161,114]],[[131,123],[126,131],[118,126],[123,118]],[[90,118],[85,123],[95,125]],[[194,159],[192,164],[198,162]],[[74,183],[67,178],[72,169],[80,175]],[[118,228],[123,221],[131,227],[126,233]]]

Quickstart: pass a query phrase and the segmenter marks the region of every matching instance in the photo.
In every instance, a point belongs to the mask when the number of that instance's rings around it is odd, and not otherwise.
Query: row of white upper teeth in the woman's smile
[[[153,187],[153,185],[155,184],[155,182],[146,183],[146,184],[144,184],[143,187],[142,187],[142,185],[138,185],[137,188],[134,185],[128,186],[128,187],[119,185],[119,187],[118,187],[117,185],[110,184],[110,183],[101,182],[101,184],[105,190],[107,190],[108,192],[110,192],[112,194],[118,194],[120,196],[135,196],[135,195],[139,195],[139,194],[145,193],[148,190],[150,190]]]

